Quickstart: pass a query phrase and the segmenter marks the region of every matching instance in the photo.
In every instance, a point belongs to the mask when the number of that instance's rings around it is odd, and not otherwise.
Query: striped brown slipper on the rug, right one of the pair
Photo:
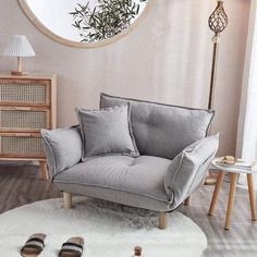
[[[81,257],[83,253],[84,240],[82,237],[71,237],[59,253],[59,257]]]

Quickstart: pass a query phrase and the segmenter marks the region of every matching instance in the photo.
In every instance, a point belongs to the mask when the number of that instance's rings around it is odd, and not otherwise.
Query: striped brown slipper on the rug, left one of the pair
[[[37,257],[38,255],[40,255],[42,249],[45,248],[44,241],[46,237],[46,234],[33,234],[22,247],[21,255],[23,257]]]

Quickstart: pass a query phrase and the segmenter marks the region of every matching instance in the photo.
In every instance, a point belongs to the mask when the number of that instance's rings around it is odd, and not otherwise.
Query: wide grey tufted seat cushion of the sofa
[[[170,201],[164,189],[164,175],[171,161],[139,156],[106,156],[81,162],[54,176],[54,183],[109,188]],[[73,192],[71,192],[73,193]]]

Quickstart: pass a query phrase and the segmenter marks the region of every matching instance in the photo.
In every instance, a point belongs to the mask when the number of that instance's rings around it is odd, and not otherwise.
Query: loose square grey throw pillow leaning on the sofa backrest
[[[76,108],[83,138],[82,160],[96,156],[139,156],[131,128],[130,105],[101,110]]]

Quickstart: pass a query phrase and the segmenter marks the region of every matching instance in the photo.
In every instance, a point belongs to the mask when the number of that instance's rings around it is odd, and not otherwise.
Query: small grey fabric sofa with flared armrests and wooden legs
[[[218,149],[218,135],[207,137],[213,111],[168,106],[101,94],[100,108],[130,102],[139,157],[105,156],[82,161],[79,126],[42,130],[49,175],[64,193],[101,198],[160,212],[174,210],[205,180]]]

